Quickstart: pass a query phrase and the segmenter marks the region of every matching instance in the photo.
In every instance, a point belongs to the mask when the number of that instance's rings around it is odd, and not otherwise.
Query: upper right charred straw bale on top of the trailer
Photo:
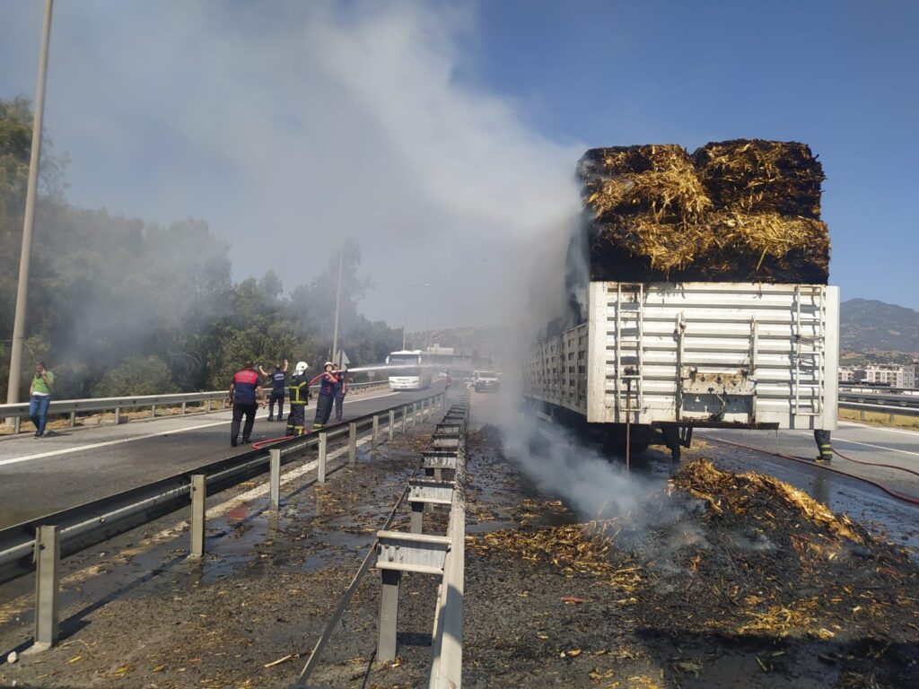
[[[718,209],[820,217],[823,165],[797,141],[762,139],[707,143],[692,154]]]

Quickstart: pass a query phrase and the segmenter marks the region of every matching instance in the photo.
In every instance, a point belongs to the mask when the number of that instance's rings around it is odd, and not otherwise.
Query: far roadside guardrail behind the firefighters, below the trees
[[[349,390],[361,390],[366,388],[381,387],[387,385],[386,380],[374,380],[369,383],[350,383]],[[310,390],[319,390],[318,385],[312,386]],[[76,425],[77,413],[85,412],[115,412],[115,424],[120,423],[120,412],[124,409],[145,409],[150,407],[151,417],[156,416],[157,407],[175,407],[182,406],[182,412],[187,412],[188,404],[206,403],[205,412],[214,411],[211,409],[211,402],[220,402],[217,411],[226,409],[227,391],[213,390],[210,392],[180,392],[166,395],[135,395],[133,397],[95,397],[85,400],[51,400],[48,405],[49,416],[70,415],[71,427]],[[28,401],[17,402],[15,404],[0,404],[0,419],[14,419],[14,433],[21,431],[21,422],[28,419]]]

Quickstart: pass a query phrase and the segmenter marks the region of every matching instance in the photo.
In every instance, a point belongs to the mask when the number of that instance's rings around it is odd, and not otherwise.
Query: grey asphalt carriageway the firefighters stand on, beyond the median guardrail
[[[355,418],[443,390],[375,390],[345,399]],[[306,418],[312,423],[314,402]],[[288,410],[285,409],[285,412]],[[230,446],[230,412],[164,417],[0,442],[0,528],[194,469],[250,449]],[[284,435],[286,424],[259,411],[252,440]]]

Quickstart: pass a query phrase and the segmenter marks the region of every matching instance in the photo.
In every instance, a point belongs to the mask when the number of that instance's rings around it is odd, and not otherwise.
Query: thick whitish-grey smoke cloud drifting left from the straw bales
[[[40,8],[9,9],[0,36],[37,54],[21,34],[38,39]],[[475,21],[409,2],[59,3],[46,126],[73,158],[68,197],[207,220],[237,278],[270,266],[289,288],[348,235],[377,285],[370,317],[400,322],[406,285],[426,282],[413,311],[500,322],[528,247],[573,213],[582,146],[460,76]]]

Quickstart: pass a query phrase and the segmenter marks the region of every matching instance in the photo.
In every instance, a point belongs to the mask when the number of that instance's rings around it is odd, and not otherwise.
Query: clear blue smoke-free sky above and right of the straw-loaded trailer
[[[483,4],[470,78],[591,145],[809,143],[827,175],[832,282],[844,299],[919,308],[919,3],[573,6]]]

